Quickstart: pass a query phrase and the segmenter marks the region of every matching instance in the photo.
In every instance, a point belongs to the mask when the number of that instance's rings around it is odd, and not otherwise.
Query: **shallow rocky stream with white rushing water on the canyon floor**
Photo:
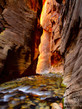
[[[50,109],[64,91],[59,74],[19,78],[0,85],[0,109]]]

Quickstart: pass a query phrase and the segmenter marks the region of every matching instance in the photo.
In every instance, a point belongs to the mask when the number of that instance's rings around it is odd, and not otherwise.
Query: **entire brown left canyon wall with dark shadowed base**
[[[25,71],[35,73],[34,31],[40,10],[39,0],[0,0],[0,75],[12,79]]]

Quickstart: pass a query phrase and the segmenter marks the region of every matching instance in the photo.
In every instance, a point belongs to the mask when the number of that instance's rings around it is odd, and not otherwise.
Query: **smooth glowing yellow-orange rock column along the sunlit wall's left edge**
[[[39,45],[39,52],[40,55],[38,57],[38,64],[37,64],[37,73],[49,73],[50,71],[50,64],[51,64],[51,57],[50,57],[50,33],[48,29],[50,27],[47,25],[49,22],[49,18],[46,19],[47,16],[47,0],[43,1],[43,9],[40,18],[40,24],[43,28],[43,34],[41,36],[41,43]],[[46,21],[47,20],[47,21]]]

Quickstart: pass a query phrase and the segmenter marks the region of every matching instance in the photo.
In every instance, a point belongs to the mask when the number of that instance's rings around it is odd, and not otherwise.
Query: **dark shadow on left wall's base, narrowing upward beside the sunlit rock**
[[[39,55],[38,48],[40,44],[40,37],[43,31],[40,26],[42,0],[38,1],[38,3],[40,7],[37,8],[37,17],[35,20],[34,30],[31,32],[30,37],[27,37],[27,35],[25,35],[26,31],[24,34],[25,46],[20,46],[19,48],[17,48],[17,45],[14,45],[13,47],[11,47],[11,49],[8,50],[6,60],[3,60],[2,62],[4,64],[4,67],[2,72],[0,73],[1,83],[24,76],[36,75],[36,65]],[[1,13],[3,12],[3,10],[1,11]],[[2,32],[3,29],[5,29],[5,27],[3,25],[2,27],[0,26],[0,32]],[[28,49],[28,47],[30,48],[30,50]],[[37,53],[35,49],[37,49]],[[30,62],[29,58],[31,58]],[[27,66],[27,64],[29,65]]]

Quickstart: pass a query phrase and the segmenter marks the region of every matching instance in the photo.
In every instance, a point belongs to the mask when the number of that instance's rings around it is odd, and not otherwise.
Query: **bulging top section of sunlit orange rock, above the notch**
[[[58,18],[58,13],[53,9],[54,5],[57,7],[59,4],[55,0],[46,0],[41,13],[40,24],[48,32],[51,32],[52,20]]]

